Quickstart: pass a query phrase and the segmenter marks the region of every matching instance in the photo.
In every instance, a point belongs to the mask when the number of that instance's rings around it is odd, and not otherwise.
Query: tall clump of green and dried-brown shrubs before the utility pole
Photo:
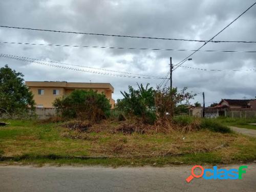
[[[142,84],[138,84],[137,90],[129,86],[129,93],[121,92],[124,98],[117,100],[116,110],[123,112],[126,117],[139,117],[143,123],[171,123],[174,112],[184,112],[188,100],[194,97],[186,92],[186,88],[181,91],[177,88],[154,90],[149,85],[147,83],[144,88]]]

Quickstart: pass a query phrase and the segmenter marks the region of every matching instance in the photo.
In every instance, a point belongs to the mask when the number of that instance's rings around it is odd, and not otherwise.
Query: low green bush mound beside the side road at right
[[[212,132],[231,133],[229,127],[222,125],[215,119],[202,119],[200,127],[201,129],[207,129]]]

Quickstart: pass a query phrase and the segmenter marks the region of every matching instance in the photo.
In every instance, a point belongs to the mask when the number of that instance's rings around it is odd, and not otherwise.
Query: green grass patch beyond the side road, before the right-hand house
[[[216,119],[219,123],[226,126],[236,126],[245,129],[256,130],[256,125],[250,125],[248,123],[256,123],[256,118],[230,118],[230,117],[219,117]]]

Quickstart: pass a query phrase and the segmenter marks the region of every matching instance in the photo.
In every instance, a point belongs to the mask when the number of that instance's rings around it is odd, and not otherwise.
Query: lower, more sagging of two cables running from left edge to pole
[[[114,74],[114,73],[102,73],[102,72],[98,72],[98,71],[58,66],[58,65],[52,65],[52,64],[49,64],[46,62],[39,62],[39,61],[35,61],[35,60],[29,60],[29,59],[25,59],[25,58],[15,57],[15,56],[11,56],[8,54],[0,54],[0,57],[10,58],[10,59],[15,59],[15,60],[20,60],[20,61],[27,61],[27,62],[32,62],[32,63],[38,63],[39,65],[45,65],[45,66],[56,67],[56,68],[61,68],[61,69],[68,69],[68,70],[81,71],[81,72],[87,72],[87,73],[96,73],[96,74],[101,74],[101,75],[111,75],[111,76],[117,76],[117,77],[130,77],[130,78],[144,78],[144,79],[164,79],[164,78],[156,78],[156,77],[143,77],[143,76],[141,77],[141,76]]]

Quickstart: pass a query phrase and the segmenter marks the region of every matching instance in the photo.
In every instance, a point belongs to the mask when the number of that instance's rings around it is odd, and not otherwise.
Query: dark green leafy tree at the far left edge
[[[35,109],[33,94],[25,86],[23,77],[8,65],[0,68],[0,115],[24,115]]]

